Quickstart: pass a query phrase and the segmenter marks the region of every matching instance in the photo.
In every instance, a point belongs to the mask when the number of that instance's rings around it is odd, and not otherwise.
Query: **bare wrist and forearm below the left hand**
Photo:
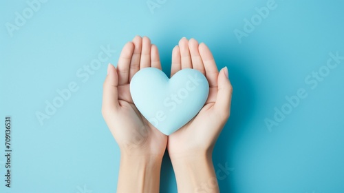
[[[117,192],[159,192],[160,156],[125,156],[120,158]]]

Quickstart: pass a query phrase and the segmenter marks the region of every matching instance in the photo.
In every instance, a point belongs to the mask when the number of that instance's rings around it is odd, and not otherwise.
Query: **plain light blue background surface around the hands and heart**
[[[11,37],[6,23],[29,6],[1,1],[0,125],[12,116],[13,169],[8,189],[1,129],[0,192],[116,192],[120,153],[100,112],[102,86],[107,63],[136,34],[158,45],[166,74],[181,37],[205,42],[218,68],[228,66],[232,114],[213,154],[215,170],[232,168],[219,180],[221,192],[344,192],[344,61],[315,89],[305,83],[330,52],[344,56],[344,3],[276,0],[239,43],[234,30],[267,2],[160,0],[151,12],[146,0],[51,0]],[[84,83],[76,71],[107,45],[117,52]],[[72,81],[78,91],[41,125],[36,112]],[[268,130],[264,120],[300,88],[307,97]],[[160,189],[176,192],[167,155]]]

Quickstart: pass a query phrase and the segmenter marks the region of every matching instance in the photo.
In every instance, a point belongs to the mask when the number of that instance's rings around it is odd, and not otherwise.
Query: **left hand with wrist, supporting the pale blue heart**
[[[125,44],[117,69],[109,64],[103,85],[103,117],[121,154],[118,192],[159,191],[167,136],[144,119],[133,104],[129,90],[133,75],[147,67],[161,70],[158,48],[147,37],[137,36]],[[144,187],[139,187],[142,184]]]

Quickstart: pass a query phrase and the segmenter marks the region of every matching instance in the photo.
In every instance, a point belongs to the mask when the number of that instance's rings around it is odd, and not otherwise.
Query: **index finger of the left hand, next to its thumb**
[[[129,67],[131,57],[133,56],[133,43],[128,42],[123,47],[118,59],[117,72],[118,72],[118,85],[129,83]]]

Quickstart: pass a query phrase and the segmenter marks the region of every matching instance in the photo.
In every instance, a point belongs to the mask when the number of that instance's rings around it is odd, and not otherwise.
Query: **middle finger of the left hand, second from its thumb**
[[[129,81],[133,78],[133,75],[140,70],[140,59],[142,50],[142,37],[136,36],[133,39],[133,57],[130,62]]]

